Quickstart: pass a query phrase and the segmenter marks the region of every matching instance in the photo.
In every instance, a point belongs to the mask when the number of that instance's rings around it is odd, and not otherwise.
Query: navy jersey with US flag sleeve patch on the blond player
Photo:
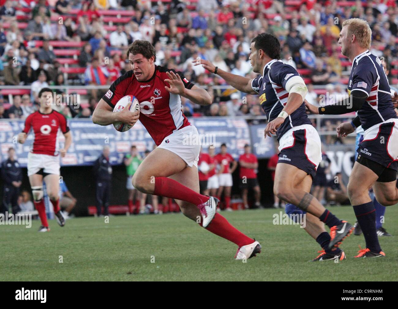
[[[354,58],[348,82],[348,94],[360,90],[368,95],[366,102],[358,111],[364,130],[397,118],[391,101],[390,85],[380,59],[369,51]]]

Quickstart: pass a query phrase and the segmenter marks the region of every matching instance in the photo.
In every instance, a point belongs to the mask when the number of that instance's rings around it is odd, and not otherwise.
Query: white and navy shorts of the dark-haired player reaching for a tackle
[[[294,126],[279,139],[278,163],[287,163],[315,177],[322,161],[321,140],[310,124]]]

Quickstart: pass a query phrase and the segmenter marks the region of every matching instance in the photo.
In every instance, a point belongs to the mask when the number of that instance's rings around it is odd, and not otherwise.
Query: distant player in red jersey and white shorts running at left
[[[33,200],[41,220],[40,232],[49,231],[43,200],[43,179],[47,194],[54,207],[55,218],[60,226],[65,219],[59,208],[59,155],[64,157],[70,144],[72,134],[69,131],[64,115],[53,110],[53,92],[49,88],[39,91],[39,110],[30,114],[25,120],[23,132],[18,134],[18,142],[23,144],[32,129],[35,134],[33,148],[28,154],[27,175],[32,188]],[[59,149],[59,129],[64,134],[64,148]]]

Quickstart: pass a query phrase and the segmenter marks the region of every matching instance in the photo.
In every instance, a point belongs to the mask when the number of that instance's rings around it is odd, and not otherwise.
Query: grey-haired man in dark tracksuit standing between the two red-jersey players
[[[102,154],[94,162],[93,172],[96,178],[96,206],[97,215],[101,216],[101,207],[104,208],[104,216],[108,216],[109,198],[111,195],[112,166],[109,163],[110,150],[105,146]]]

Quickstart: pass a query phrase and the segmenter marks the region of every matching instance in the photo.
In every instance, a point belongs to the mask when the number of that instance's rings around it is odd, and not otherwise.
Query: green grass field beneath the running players
[[[351,207],[331,209],[354,223]],[[381,237],[385,258],[354,259],[363,236],[351,235],[342,248],[347,260],[311,263],[320,249],[297,225],[273,225],[279,210],[222,213],[233,225],[258,240],[263,250],[242,263],[233,259],[237,247],[182,214],[76,218],[65,227],[50,221],[49,233],[0,225],[0,273],[3,281],[68,280],[360,280],[398,278],[398,208],[386,211],[384,227],[393,237]],[[63,262],[59,262],[62,255]],[[151,262],[152,259],[152,262]],[[154,262],[153,262],[154,261]]]

